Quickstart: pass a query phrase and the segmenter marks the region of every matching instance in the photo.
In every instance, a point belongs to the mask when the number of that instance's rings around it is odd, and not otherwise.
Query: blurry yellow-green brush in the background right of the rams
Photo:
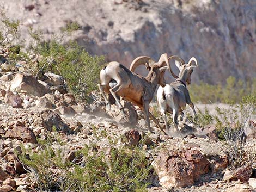
[[[239,103],[243,96],[256,95],[256,78],[248,81],[228,77],[224,85],[200,82],[188,86],[191,100],[200,103]]]

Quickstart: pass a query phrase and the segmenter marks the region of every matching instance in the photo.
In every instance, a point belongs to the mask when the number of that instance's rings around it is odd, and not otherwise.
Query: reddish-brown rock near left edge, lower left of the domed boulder
[[[34,133],[28,127],[16,126],[13,129],[8,129],[5,137],[21,139],[25,143],[37,143]]]

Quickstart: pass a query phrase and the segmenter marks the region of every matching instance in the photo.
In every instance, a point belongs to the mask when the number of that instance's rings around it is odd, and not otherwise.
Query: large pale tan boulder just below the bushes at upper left
[[[44,85],[38,82],[35,77],[27,73],[17,73],[11,82],[11,91],[26,92],[34,96],[44,96],[50,92]]]

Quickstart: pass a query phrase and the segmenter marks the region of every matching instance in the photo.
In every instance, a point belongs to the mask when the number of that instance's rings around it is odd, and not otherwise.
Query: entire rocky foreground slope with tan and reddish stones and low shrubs
[[[13,51],[0,46],[7,60]],[[155,133],[147,133],[143,113],[131,103],[121,100],[123,116],[114,104],[106,109],[97,91],[90,103],[77,102],[62,76],[42,71],[40,80],[25,71],[25,61],[16,62],[1,64],[1,192],[255,191],[256,97],[241,110],[218,106],[217,122],[216,106],[208,106],[211,113],[197,108],[196,119],[186,109],[182,137],[173,126],[160,133],[153,121]],[[154,103],[150,110],[163,126]]]

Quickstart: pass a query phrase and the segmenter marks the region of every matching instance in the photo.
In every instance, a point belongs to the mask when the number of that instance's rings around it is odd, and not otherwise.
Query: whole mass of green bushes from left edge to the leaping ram
[[[52,36],[43,41],[42,32],[29,28],[31,42],[28,47],[22,45],[19,21],[11,21],[0,13],[3,28],[0,28],[0,45],[8,47],[8,63],[17,70],[17,61],[25,61],[26,72],[40,78],[45,72],[56,73],[65,79],[68,91],[78,100],[87,100],[89,92],[97,89],[103,56],[92,56],[76,41],[64,41],[80,26],[77,22],[70,22],[62,28],[62,34]],[[11,36],[11,38],[9,38]],[[20,44],[17,44],[20,42]],[[22,51],[21,51],[22,50]],[[37,55],[35,61],[31,55]]]

